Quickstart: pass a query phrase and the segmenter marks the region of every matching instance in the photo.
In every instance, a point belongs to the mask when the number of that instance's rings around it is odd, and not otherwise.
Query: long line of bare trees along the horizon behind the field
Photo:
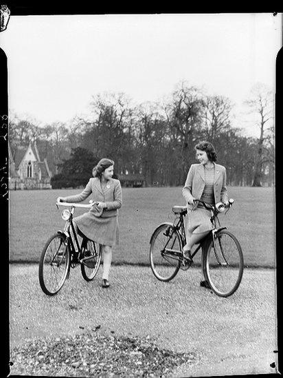
[[[17,148],[36,140],[57,175],[54,179],[69,176],[73,187],[84,185],[102,157],[115,161],[117,177],[140,174],[147,186],[179,186],[196,162],[194,145],[209,140],[227,169],[228,185],[272,185],[272,92],[257,85],[245,104],[258,125],[258,138],[232,127],[229,98],[204,94],[186,82],[163,103],[133,105],[125,94],[98,94],[91,99],[89,114],[73,118],[70,125],[40,127],[31,120],[10,118],[10,149],[16,154]]]

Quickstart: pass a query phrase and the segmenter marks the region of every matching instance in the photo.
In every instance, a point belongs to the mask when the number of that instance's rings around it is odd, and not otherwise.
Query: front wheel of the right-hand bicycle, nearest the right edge
[[[204,274],[210,287],[220,297],[235,293],[242,280],[244,258],[240,243],[229,231],[216,234],[205,251]]]

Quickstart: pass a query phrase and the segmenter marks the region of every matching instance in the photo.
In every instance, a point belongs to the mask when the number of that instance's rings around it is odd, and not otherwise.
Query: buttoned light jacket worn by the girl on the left
[[[106,209],[100,209],[96,205],[93,206],[91,212],[95,216],[101,216],[102,218],[117,216],[118,209],[122,207],[122,187],[120,181],[115,178],[111,178],[103,190],[100,178],[91,178],[81,193],[65,197],[65,201],[82,202],[89,196],[91,196],[91,200],[94,202],[106,203]]]

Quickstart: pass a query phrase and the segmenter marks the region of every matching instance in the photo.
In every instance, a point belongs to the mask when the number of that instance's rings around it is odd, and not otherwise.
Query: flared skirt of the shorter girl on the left
[[[119,243],[117,216],[102,218],[93,213],[84,213],[73,218],[73,222],[89,240],[102,245],[113,246]]]

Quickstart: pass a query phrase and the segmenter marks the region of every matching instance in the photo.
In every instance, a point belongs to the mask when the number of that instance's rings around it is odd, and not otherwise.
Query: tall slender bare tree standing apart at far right
[[[264,163],[271,160],[270,149],[266,143],[273,144],[273,92],[262,83],[256,84],[251,90],[251,97],[246,100],[245,105],[250,112],[258,116],[257,125],[260,129],[258,138],[258,151],[255,160],[255,173],[253,176],[253,187],[262,186],[262,168]]]

